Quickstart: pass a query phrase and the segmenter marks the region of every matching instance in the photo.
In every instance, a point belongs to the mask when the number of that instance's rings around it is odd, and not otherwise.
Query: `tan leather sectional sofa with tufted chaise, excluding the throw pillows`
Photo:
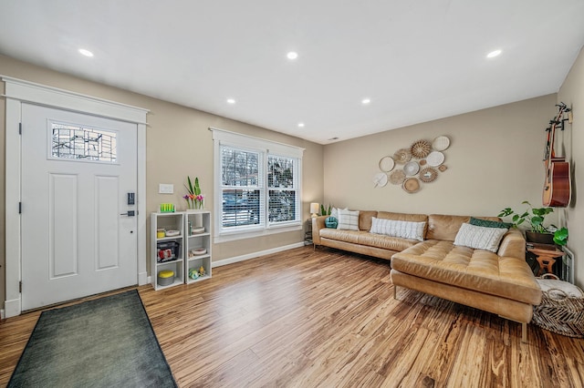
[[[424,221],[423,241],[370,233],[373,217]],[[312,220],[315,246],[391,260],[394,297],[398,287],[405,287],[493,312],[520,322],[521,339],[527,341],[527,323],[533,306],[541,301],[541,290],[525,260],[526,241],[519,230],[508,230],[492,252],[454,245],[458,230],[470,217],[366,210],[359,213],[359,230],[326,228],[326,218]]]

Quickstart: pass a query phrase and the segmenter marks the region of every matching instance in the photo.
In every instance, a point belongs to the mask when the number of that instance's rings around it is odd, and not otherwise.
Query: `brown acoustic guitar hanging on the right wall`
[[[570,109],[566,104],[558,104],[558,115],[550,122],[547,131],[546,147],[544,151],[544,168],[546,180],[543,190],[543,205],[549,207],[565,208],[571,199],[571,182],[569,162],[566,158],[556,157],[554,141],[556,128],[564,128],[564,113]]]

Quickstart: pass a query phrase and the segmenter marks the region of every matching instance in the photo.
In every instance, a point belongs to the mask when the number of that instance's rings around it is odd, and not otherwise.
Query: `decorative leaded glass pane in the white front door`
[[[84,128],[51,123],[52,158],[114,163],[118,133],[106,129]]]

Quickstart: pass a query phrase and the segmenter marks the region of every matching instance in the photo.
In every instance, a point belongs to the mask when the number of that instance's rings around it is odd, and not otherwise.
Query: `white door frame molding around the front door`
[[[149,110],[141,107],[90,97],[56,87],[28,82],[13,77],[0,77],[5,82],[5,316],[13,317],[22,312],[20,281],[21,240],[21,150],[19,126],[22,103],[56,107],[99,117],[115,118],[138,126],[138,279],[139,285],[147,283],[146,272],[146,115]]]

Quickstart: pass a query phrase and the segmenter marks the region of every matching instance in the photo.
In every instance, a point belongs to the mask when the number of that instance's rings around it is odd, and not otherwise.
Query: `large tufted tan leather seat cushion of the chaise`
[[[391,257],[391,268],[423,279],[537,305],[541,290],[525,260],[425,240]]]

